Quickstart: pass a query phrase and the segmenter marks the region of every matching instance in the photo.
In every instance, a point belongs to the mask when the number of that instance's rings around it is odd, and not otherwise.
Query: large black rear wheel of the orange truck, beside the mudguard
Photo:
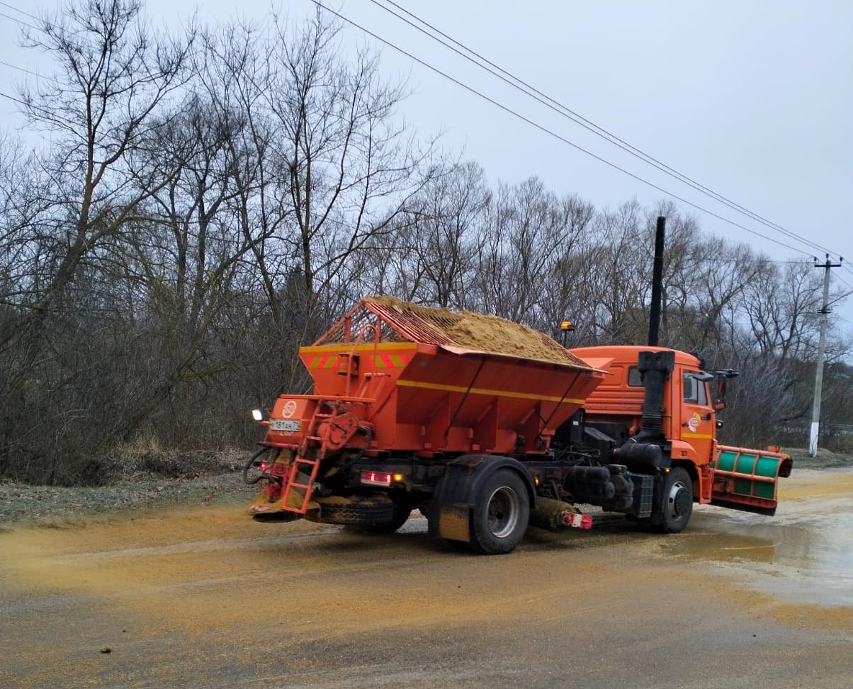
[[[509,553],[525,535],[529,518],[524,481],[512,469],[501,469],[486,480],[475,498],[469,545],[478,553]]]

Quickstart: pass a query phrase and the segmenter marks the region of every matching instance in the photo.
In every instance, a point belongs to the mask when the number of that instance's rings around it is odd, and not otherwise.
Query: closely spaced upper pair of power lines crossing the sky
[[[666,165],[665,163],[663,163],[659,159],[654,158],[651,154],[642,151],[640,148],[636,148],[635,146],[633,146],[629,142],[626,142],[626,141],[624,141],[624,139],[621,139],[618,136],[616,136],[615,134],[613,134],[611,131],[604,129],[603,127],[599,126],[598,124],[595,124],[595,122],[592,122],[591,120],[583,117],[583,115],[572,110],[570,107],[567,107],[565,104],[561,103],[560,101],[555,101],[554,98],[543,93],[541,90],[538,90],[536,87],[527,83],[524,79],[516,77],[511,72],[508,72],[507,70],[503,69],[502,67],[499,67],[494,62],[490,61],[488,58],[484,57],[483,55],[480,55],[475,50],[468,48],[465,44],[460,43],[455,38],[450,37],[448,34],[442,32],[440,29],[438,29],[438,27],[433,26],[428,21],[421,19],[421,17],[417,16],[416,14],[409,12],[408,9],[401,7],[400,5],[395,3],[393,0],[385,0],[385,2],[392,5],[393,7],[397,8],[397,9],[399,9],[403,13],[408,14],[410,17],[412,17],[416,21],[420,22],[422,25],[428,26],[433,32],[436,32],[440,36],[447,38],[448,41],[459,46],[462,50],[466,51],[470,55],[474,55],[479,61],[485,62],[486,64],[484,65],[484,64],[481,64],[480,62],[478,62],[477,60],[474,60],[469,55],[466,55],[465,53],[461,52],[461,50],[456,49],[453,45],[450,45],[450,43],[443,41],[441,38],[438,38],[437,36],[433,35],[432,33],[427,32],[421,26],[417,26],[413,22],[406,19],[405,17],[401,16],[400,14],[397,14],[396,12],[394,12],[394,10],[386,7],[386,5],[384,5],[383,3],[380,3],[378,0],[370,0],[370,2],[374,3],[374,5],[376,5],[380,9],[384,9],[389,14],[392,14],[393,16],[397,17],[397,19],[402,20],[403,22],[405,22],[409,26],[412,26],[417,31],[423,33],[425,36],[432,38],[432,40],[444,45],[445,48],[452,50],[457,55],[461,55],[461,57],[463,57],[465,60],[473,63],[474,65],[476,65],[477,67],[480,67],[481,69],[484,69],[486,72],[489,72],[492,76],[495,76],[496,78],[501,79],[503,82],[505,82],[506,84],[509,84],[514,89],[521,91],[522,93],[525,94],[525,96],[529,96],[529,97],[533,98],[534,100],[538,101],[539,103],[542,103],[544,106],[550,108],[555,113],[560,114],[561,116],[565,117],[566,119],[572,120],[572,122],[579,124],[584,129],[591,131],[596,136],[600,136],[606,142],[612,143],[614,146],[621,148],[626,153],[630,153],[635,158],[642,160],[644,163],[647,163],[648,165],[652,165],[657,170],[664,172],[664,174],[669,175],[670,177],[673,177],[678,182],[682,182],[682,183],[687,184],[689,187],[695,189],[696,191],[699,191],[699,193],[705,194],[705,196],[708,196],[711,199],[716,200],[725,206],[728,206],[728,208],[731,208],[734,211],[738,211],[738,212],[746,215],[746,217],[749,217],[751,220],[755,220],[758,223],[762,223],[763,225],[769,227],[770,229],[775,230],[776,232],[779,232],[780,234],[786,235],[790,239],[799,240],[807,246],[811,246],[815,249],[820,249],[821,251],[824,251],[824,252],[834,253],[830,249],[827,249],[827,247],[821,246],[820,244],[817,244],[814,241],[809,240],[808,238],[793,232],[792,230],[789,230],[789,229],[782,227],[778,223],[774,223],[774,222],[768,220],[767,218],[762,217],[753,211],[750,211],[748,208],[741,206],[737,202],[735,202],[731,199],[728,199],[727,197],[723,196],[722,194],[717,193],[713,189],[706,187],[704,184],[697,182],[696,180],[692,179],[691,177],[688,177],[687,175],[683,174],[682,172],[677,171],[676,169],[672,168],[670,165]],[[487,67],[486,65],[488,65],[489,67]],[[490,67],[494,67],[494,69],[490,69]],[[498,73],[498,72],[500,72],[500,73]],[[506,75],[506,76],[503,76],[503,75]],[[510,81],[510,79],[512,79],[513,81]],[[517,84],[515,84],[513,82],[517,82]],[[521,86],[519,86],[519,84],[521,84]],[[522,88],[522,86],[524,88]],[[532,91],[532,93],[531,93],[531,91]],[[539,97],[539,96],[542,96],[542,97]]]

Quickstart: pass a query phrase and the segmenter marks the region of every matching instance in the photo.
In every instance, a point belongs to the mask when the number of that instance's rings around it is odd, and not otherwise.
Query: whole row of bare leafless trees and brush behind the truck
[[[730,441],[801,437],[810,264],[702,234],[670,202],[490,184],[409,130],[405,85],[325,15],[269,19],[170,37],[141,0],[78,0],[25,34],[55,70],[20,90],[42,141],[0,135],[0,475],[97,482],[140,438],[247,443],[246,409],[307,391],[299,346],[366,292],[641,343],[658,214],[664,344],[741,369]],[[844,443],[838,330],[825,427]]]

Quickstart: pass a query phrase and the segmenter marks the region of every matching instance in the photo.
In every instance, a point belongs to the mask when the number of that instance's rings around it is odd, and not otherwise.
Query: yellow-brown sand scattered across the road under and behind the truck
[[[841,484],[853,490],[851,480],[853,474],[849,473],[804,472],[803,478],[795,473],[793,478],[786,479],[787,495],[783,501],[786,497],[790,501],[803,494],[819,495],[821,490]],[[806,500],[814,501],[815,498]],[[788,502],[789,512],[794,504],[799,511],[810,509],[810,503]],[[688,530],[685,538],[690,537]],[[305,631],[393,625],[397,617],[389,611],[395,610],[406,611],[409,619],[422,623],[448,616],[489,617],[497,614],[507,602],[505,596],[514,591],[511,582],[520,576],[531,558],[543,566],[556,567],[552,574],[554,582],[548,587],[560,591],[573,581],[578,567],[591,568],[595,576],[604,576],[607,572],[618,581],[632,582],[636,586],[660,576],[689,577],[682,564],[672,569],[678,560],[661,551],[659,538],[641,533],[614,536],[606,531],[581,535],[543,532],[536,538],[541,542],[547,539],[552,547],[537,552],[533,546],[530,552],[508,558],[473,558],[455,553],[451,556],[428,541],[425,535],[415,539],[411,536],[375,539],[305,520],[258,524],[247,517],[243,506],[196,507],[153,511],[142,516],[116,518],[111,523],[96,521],[67,529],[10,530],[0,534],[0,574],[5,572],[7,584],[14,582],[25,588],[82,589],[142,602],[145,611],[156,611],[164,617],[186,613],[178,617],[197,622],[199,628],[245,621],[256,587],[274,589],[276,582],[289,580],[299,582],[296,590],[300,605],[305,608],[305,615],[292,622]],[[605,547],[594,546],[596,540]],[[648,558],[657,565],[626,569],[620,564],[624,556],[618,561],[612,560],[612,548],[606,547],[611,542],[617,542],[621,548],[630,548],[637,557],[648,549]],[[563,569],[567,553],[562,551],[566,547],[573,550],[583,547],[583,551],[572,553],[573,565],[569,570]],[[359,555],[355,557],[355,553]],[[376,585],[374,568],[379,561],[388,570],[383,576],[397,584],[386,588],[385,602],[377,607],[370,599],[353,599],[352,591],[368,590]],[[659,570],[664,565],[669,568],[665,574]],[[451,579],[458,581],[446,590],[435,590],[435,577],[446,577],[451,570],[454,572]],[[397,579],[397,576],[402,578]],[[710,582],[705,575],[701,578],[705,585]],[[193,595],[188,596],[187,584],[200,579],[206,580],[207,586],[191,587]],[[500,582],[504,597],[495,597],[490,587],[483,588],[485,580],[492,585]],[[716,581],[726,596],[732,594],[732,586],[725,583],[724,578]],[[224,588],[219,586],[220,582]],[[245,588],[243,582],[247,584]],[[464,588],[465,596],[456,595],[457,584]],[[504,585],[507,588],[503,588]],[[538,588],[543,586],[543,582],[537,584]],[[519,595],[523,597],[526,593],[519,592]],[[204,605],[199,605],[200,599],[204,600]],[[313,605],[317,600],[323,600],[324,605]],[[762,617],[776,618],[780,622],[796,621],[853,631],[849,606],[796,605],[760,596],[754,591],[746,591],[738,600],[744,609],[755,608]]]

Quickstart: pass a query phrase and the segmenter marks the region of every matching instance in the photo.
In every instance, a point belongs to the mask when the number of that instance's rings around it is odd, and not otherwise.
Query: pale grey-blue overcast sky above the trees
[[[325,0],[324,0],[325,2]],[[775,223],[850,258],[853,192],[853,3],[838,2],[449,2],[395,0],[548,96]],[[35,12],[55,2],[9,0]],[[641,177],[763,234],[785,239],[665,177],[577,124],[470,66],[369,0],[329,6],[421,59],[483,90]],[[155,23],[174,25],[197,11],[202,23],[263,17],[266,0],[148,0]],[[276,3],[294,18],[310,0]],[[4,14],[26,19],[8,7]],[[44,59],[17,44],[19,26],[0,16],[0,60],[43,69]],[[345,39],[363,43],[356,28]],[[389,75],[409,75],[415,94],[401,114],[444,146],[464,149],[490,179],[541,177],[558,193],[577,192],[597,206],[663,197],[624,174],[514,119],[455,84],[383,47]],[[20,72],[0,65],[0,90],[14,94]],[[20,125],[13,103],[3,123]],[[773,258],[798,254],[695,211],[703,229]],[[835,271],[853,284],[850,272]],[[839,284],[839,283],[837,283]],[[839,311],[853,321],[853,307]],[[850,327],[850,323],[839,323]]]

